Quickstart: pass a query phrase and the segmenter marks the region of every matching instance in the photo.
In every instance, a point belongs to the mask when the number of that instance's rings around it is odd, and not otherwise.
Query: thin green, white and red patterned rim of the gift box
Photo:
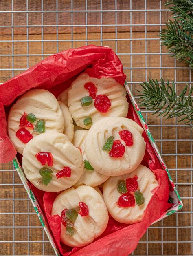
[[[145,123],[145,119],[143,118],[143,115],[142,115],[142,113],[141,113],[141,111],[140,111],[140,109],[139,109],[139,107],[138,107],[138,105],[136,103],[136,100],[135,100],[132,92],[129,89],[129,86],[127,85],[127,82],[125,82],[125,88],[127,90],[129,98],[130,98],[130,100],[132,102],[132,105],[133,105],[133,107],[134,107],[134,109],[135,109],[135,111],[136,111],[136,113],[137,113],[137,115],[138,115],[138,117],[140,119],[140,122],[141,122],[141,124],[142,124],[142,126],[143,126],[143,128],[144,128],[144,130],[145,130],[145,132],[147,134],[147,137],[149,138],[149,141],[150,141],[152,147],[154,148],[154,151],[155,151],[155,153],[156,153],[160,163],[162,164],[163,169],[167,172],[169,182],[171,183],[171,186],[173,187],[173,191],[172,192],[170,191],[170,199],[173,202],[173,207],[171,207],[171,209],[169,209],[161,218],[159,218],[157,220],[157,221],[159,221],[160,219],[163,219],[163,218],[165,218],[165,217],[167,217],[167,216],[177,212],[178,210],[182,209],[182,206],[183,206],[182,200],[180,198],[180,195],[179,195],[177,189],[175,188],[175,185],[174,185],[174,183],[172,181],[171,175],[169,174],[169,170],[167,169],[167,166],[164,163],[164,160],[162,159],[162,156],[161,156],[160,151],[159,151],[159,149],[158,149],[158,147],[156,145],[156,142],[155,142],[155,140],[154,140],[154,138],[153,138],[153,136],[152,136],[152,134],[151,134],[147,124]],[[28,181],[27,181],[27,179],[25,177],[24,171],[22,170],[22,167],[20,166],[20,163],[18,162],[18,159],[16,157],[13,159],[13,165],[15,166],[15,169],[17,170],[17,172],[19,174],[19,177],[20,177],[20,179],[21,179],[21,181],[22,181],[22,183],[24,185],[24,188],[26,189],[26,192],[27,192],[27,194],[28,194],[28,196],[29,196],[29,198],[31,200],[31,203],[32,203],[32,205],[33,205],[33,207],[35,209],[35,212],[37,213],[39,221],[42,224],[42,227],[44,228],[44,230],[46,232],[46,235],[48,236],[48,239],[49,239],[49,241],[50,241],[50,243],[51,243],[51,245],[52,245],[52,247],[54,249],[54,252],[55,252],[56,256],[59,256],[60,254],[59,254],[59,251],[58,251],[58,249],[57,249],[57,247],[55,245],[54,238],[53,238],[52,234],[50,233],[48,227],[46,226],[44,215],[42,214],[42,212],[40,210],[40,207],[38,205],[37,199],[35,198],[35,195],[33,194],[33,191],[30,188],[30,184],[28,183]]]

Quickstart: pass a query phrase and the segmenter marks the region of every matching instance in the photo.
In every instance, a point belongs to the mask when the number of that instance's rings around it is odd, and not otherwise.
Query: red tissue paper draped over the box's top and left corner
[[[84,70],[90,77],[114,77],[120,84],[126,78],[121,61],[112,49],[89,45],[51,55],[0,85],[0,163],[7,163],[16,155],[7,136],[4,107],[33,88],[48,89],[57,97]]]

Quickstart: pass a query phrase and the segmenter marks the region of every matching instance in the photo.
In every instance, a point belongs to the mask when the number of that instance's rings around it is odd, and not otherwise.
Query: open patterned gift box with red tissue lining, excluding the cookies
[[[144,129],[146,152],[142,164],[154,172],[159,187],[153,192],[154,195],[140,223],[126,225],[110,218],[105,232],[93,243],[85,247],[71,248],[62,245],[59,241],[60,217],[50,216],[56,193],[42,192],[27,181],[20,165],[21,156],[16,157],[15,148],[7,136],[6,114],[15,99],[26,90],[44,88],[57,97],[82,71],[88,73],[90,77],[113,77],[125,86],[129,102],[127,117],[136,121]],[[125,79],[121,61],[112,49],[90,45],[52,55],[0,85],[0,162],[6,163],[13,160],[13,165],[56,255],[118,255],[120,251],[121,255],[130,254],[149,225],[173,214],[183,206],[167,166]]]

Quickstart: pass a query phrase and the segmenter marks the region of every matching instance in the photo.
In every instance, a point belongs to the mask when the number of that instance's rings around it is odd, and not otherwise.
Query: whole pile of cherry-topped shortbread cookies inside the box
[[[9,137],[23,155],[27,179],[40,190],[62,191],[52,215],[61,216],[66,245],[91,243],[109,214],[121,223],[141,221],[158,186],[140,165],[143,128],[127,113],[124,86],[86,73],[57,99],[47,90],[29,90],[9,112]]]

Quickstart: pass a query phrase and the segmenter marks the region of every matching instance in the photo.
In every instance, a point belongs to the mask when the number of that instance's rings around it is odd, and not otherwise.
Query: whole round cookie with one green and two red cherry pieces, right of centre
[[[105,117],[96,121],[85,139],[90,165],[108,176],[132,172],[145,154],[142,133],[143,128],[128,118]]]

